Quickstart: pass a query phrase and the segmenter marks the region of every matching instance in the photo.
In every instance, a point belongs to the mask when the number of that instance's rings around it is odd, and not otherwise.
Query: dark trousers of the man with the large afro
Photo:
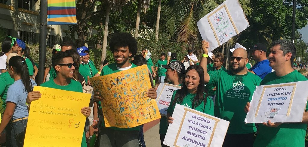
[[[100,128],[99,147],[139,147],[139,131]]]

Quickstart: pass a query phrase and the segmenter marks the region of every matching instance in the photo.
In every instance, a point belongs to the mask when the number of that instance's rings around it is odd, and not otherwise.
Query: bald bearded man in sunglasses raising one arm
[[[204,70],[204,80],[207,86],[216,86],[214,116],[230,122],[223,146],[252,146],[257,129],[254,124],[245,124],[246,113],[243,107],[251,101],[253,92],[259,86],[261,79],[245,70],[248,57],[243,48],[233,51],[229,71],[207,72],[208,48],[209,42],[202,41],[203,55],[200,66]]]

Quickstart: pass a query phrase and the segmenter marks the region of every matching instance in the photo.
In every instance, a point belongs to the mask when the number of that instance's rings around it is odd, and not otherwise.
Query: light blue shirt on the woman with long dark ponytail
[[[32,83],[32,88],[37,86],[33,79],[30,79]],[[25,86],[22,83],[22,80],[19,79],[15,81],[7,90],[6,94],[6,103],[13,102],[16,104],[15,111],[13,114],[13,120],[18,118],[28,117],[28,108],[26,106],[26,99],[28,92],[26,91]]]

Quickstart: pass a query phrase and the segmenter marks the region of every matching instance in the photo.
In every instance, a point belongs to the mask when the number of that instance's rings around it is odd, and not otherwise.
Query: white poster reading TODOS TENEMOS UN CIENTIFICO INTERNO
[[[302,122],[307,85],[308,81],[257,86],[245,122]]]

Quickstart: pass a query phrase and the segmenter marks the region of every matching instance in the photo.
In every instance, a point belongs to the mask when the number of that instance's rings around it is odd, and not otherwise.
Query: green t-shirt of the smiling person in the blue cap
[[[93,61],[89,60],[87,64],[80,64],[79,72],[85,79],[86,83],[88,83],[88,76],[92,78],[98,71],[95,68]]]

